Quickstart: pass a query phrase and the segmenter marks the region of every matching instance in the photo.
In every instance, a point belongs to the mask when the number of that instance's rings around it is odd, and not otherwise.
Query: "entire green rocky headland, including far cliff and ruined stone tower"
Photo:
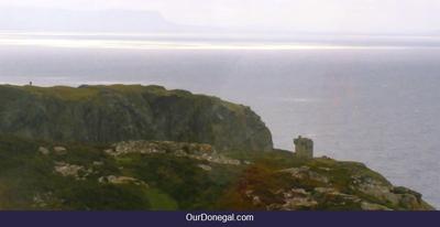
[[[185,90],[0,86],[0,209],[433,209],[295,141],[273,149],[249,107]]]

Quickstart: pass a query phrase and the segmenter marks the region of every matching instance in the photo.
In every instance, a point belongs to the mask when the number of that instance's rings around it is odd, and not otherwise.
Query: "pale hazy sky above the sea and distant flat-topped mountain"
[[[188,25],[338,33],[440,33],[440,0],[0,0],[0,7],[147,10]]]

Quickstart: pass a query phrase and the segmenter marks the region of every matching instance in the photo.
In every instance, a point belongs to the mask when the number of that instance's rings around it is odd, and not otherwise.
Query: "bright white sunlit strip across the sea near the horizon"
[[[204,42],[204,41],[155,41],[155,40],[75,40],[75,39],[13,39],[1,37],[0,46],[41,46],[63,48],[105,50],[407,50],[439,48],[439,45],[377,45],[331,44],[319,42]]]

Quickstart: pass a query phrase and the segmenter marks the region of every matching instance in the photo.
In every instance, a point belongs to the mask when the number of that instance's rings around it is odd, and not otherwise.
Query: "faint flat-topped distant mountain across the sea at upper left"
[[[0,9],[0,30],[26,32],[183,32],[204,28],[174,24],[154,11]]]

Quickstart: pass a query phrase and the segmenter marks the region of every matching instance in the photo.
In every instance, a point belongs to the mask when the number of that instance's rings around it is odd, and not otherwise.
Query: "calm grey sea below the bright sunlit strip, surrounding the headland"
[[[366,163],[440,207],[440,50],[0,47],[0,83],[158,84],[251,106],[293,149]]]

